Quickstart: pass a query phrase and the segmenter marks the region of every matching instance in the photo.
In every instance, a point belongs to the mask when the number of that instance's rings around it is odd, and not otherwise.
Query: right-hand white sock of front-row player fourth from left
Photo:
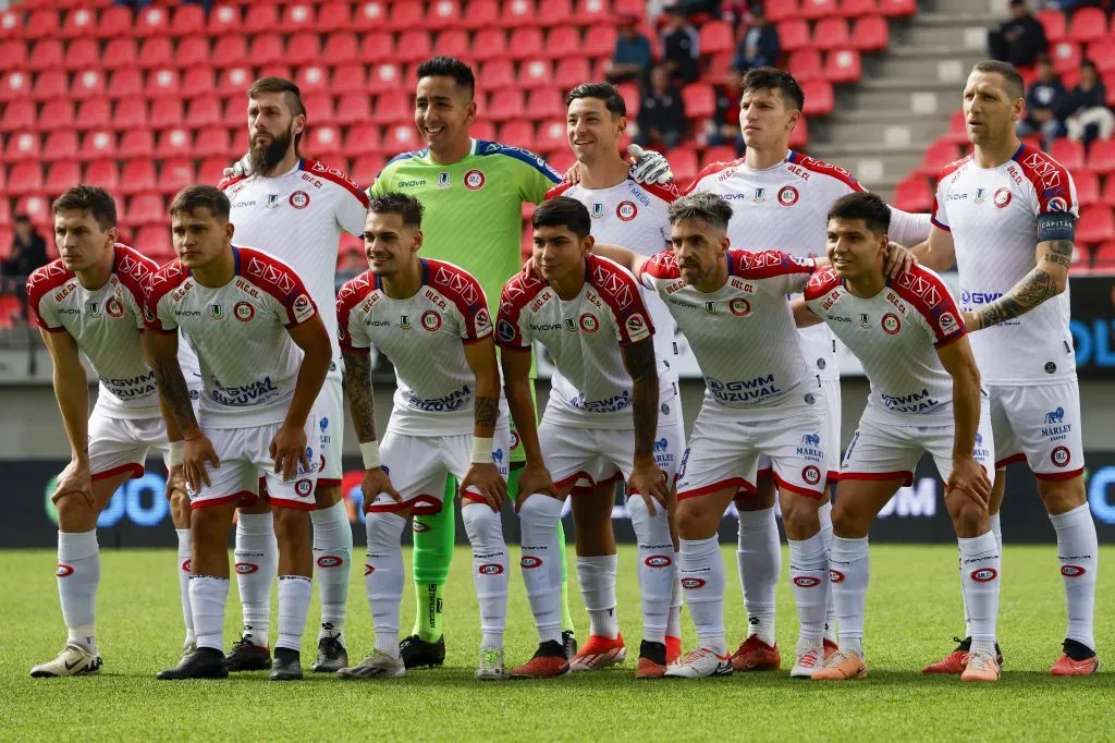
[[[650,515],[647,502],[639,495],[628,499],[628,510],[638,542],[636,573],[642,595],[642,638],[648,643],[665,644],[670,597],[678,580],[669,518],[661,506],[655,509],[653,517]]]

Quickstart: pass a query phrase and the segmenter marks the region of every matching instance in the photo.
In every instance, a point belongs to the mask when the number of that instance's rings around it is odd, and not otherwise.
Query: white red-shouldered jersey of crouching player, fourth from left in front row
[[[526,269],[503,288],[496,344],[523,349],[539,340],[550,351],[556,372],[542,419],[555,425],[632,428],[631,375],[620,346],[653,335],[634,277],[600,255],[585,257],[584,286],[571,300]],[[661,402],[673,399],[669,385],[659,393]]]

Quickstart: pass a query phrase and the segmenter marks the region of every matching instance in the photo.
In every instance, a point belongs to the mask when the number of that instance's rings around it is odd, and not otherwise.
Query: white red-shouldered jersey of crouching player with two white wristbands
[[[413,436],[471,434],[476,377],[464,344],[492,335],[479,282],[445,261],[423,260],[423,282],[409,299],[392,299],[371,271],[349,280],[337,296],[340,344],[346,353],[371,346],[395,365],[395,407],[387,430]]]

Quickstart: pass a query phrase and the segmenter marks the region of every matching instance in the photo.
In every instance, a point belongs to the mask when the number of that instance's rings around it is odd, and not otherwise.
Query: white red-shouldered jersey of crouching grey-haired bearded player
[[[709,293],[681,279],[672,250],[658,253],[639,280],[661,297],[705,375],[705,399],[727,407],[799,404],[821,388],[808,376],[787,293],[805,290],[813,259],[728,251],[728,281]]]

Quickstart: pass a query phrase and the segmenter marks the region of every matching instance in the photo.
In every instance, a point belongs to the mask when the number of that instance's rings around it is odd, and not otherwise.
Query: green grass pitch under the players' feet
[[[518,548],[512,548],[513,561]],[[734,551],[726,618],[729,644],[746,619]],[[359,561],[359,557],[357,558]],[[573,551],[570,550],[572,561]],[[1113,659],[1115,578],[1104,550],[1096,605],[1101,657]],[[31,665],[65,640],[51,551],[0,552],[0,740],[258,741],[611,741],[925,740],[1076,741],[1115,737],[1115,674],[1051,678],[1065,628],[1061,580],[1053,546],[1011,547],[1005,559],[999,637],[1006,670],[996,685],[922,676],[922,665],[952,648],[962,631],[956,547],[878,546],[871,553],[866,649],[861,682],[791,681],[797,621],[789,588],[779,586],[778,639],[784,670],[686,682],[636,682],[640,639],[634,556],[621,548],[619,619],[630,656],[620,667],[549,682],[482,684],[473,679],[479,629],[469,573],[458,549],[447,589],[446,665],[401,679],[342,682],[309,673],[319,616],[317,591],[303,639],[307,681],[273,684],[263,674],[222,682],[157,682],[182,640],[175,556],[166,551],[103,554],[98,625],[105,673],[31,679]],[[409,553],[406,556],[409,566]],[[359,566],[359,562],[357,563]],[[784,557],[783,575],[786,572]],[[574,571],[571,569],[571,575]],[[362,570],[352,571],[347,629],[358,660],[371,646]],[[783,581],[786,582],[785,580]],[[575,582],[578,636],[588,619]],[[226,641],[240,609],[229,600]],[[274,618],[275,612],[272,612]],[[508,664],[533,653],[536,635],[517,567],[512,570]],[[408,582],[403,623],[414,619]],[[683,615],[686,646],[694,633]],[[272,636],[274,628],[272,625]],[[789,657],[787,657],[789,656]],[[1113,659],[1115,662],[1115,659]]]

